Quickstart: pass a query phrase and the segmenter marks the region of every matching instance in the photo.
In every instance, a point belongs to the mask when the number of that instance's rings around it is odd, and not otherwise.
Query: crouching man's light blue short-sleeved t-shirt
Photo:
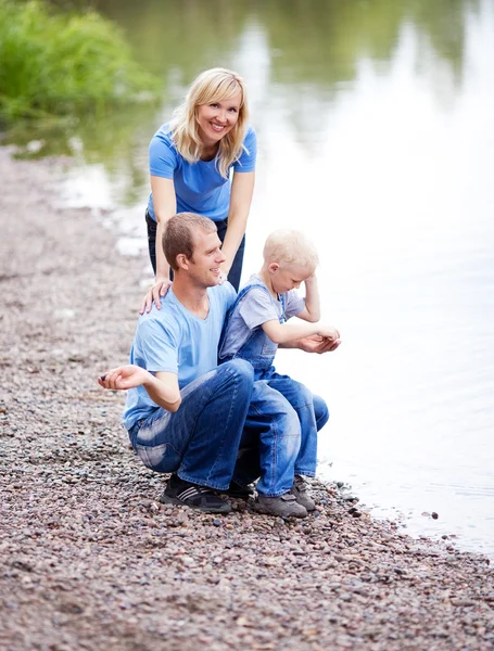
[[[205,319],[200,319],[183,307],[170,288],[162,298],[161,309],[153,304],[149,314],[139,317],[130,363],[151,373],[177,373],[180,388],[216,368],[223,323],[237,294],[226,282],[208,288],[207,295],[210,311]],[[125,426],[130,430],[156,409],[143,386],[130,388],[124,411]]]

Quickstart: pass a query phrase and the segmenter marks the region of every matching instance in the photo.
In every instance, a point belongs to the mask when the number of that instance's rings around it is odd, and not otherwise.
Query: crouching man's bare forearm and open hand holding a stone
[[[103,388],[119,391],[143,386],[159,407],[172,412],[180,407],[181,397],[176,373],[159,371],[153,375],[138,366],[127,365],[100,375],[98,383]]]

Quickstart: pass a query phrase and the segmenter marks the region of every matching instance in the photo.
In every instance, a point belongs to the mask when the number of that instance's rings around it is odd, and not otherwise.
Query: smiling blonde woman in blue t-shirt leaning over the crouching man
[[[213,68],[192,82],[172,123],[153,136],[145,220],[156,280],[141,314],[151,309],[153,301],[160,308],[160,297],[172,283],[162,238],[164,225],[176,213],[197,213],[216,222],[226,256],[223,279],[228,276],[238,290],[256,157],[255,132],[246,120],[243,80],[226,68]]]

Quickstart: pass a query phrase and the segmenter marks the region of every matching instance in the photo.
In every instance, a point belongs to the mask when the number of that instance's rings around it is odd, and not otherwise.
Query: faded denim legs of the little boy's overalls
[[[295,474],[315,476],[317,432],[328,419],[322,398],[271,367],[254,382],[233,478],[249,484],[261,475],[257,492],[278,497]]]

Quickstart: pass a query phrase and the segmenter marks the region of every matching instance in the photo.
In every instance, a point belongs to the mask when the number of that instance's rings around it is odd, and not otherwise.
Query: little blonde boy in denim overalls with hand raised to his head
[[[279,344],[290,347],[305,336],[327,337],[331,349],[340,344],[335,328],[314,324],[319,320],[317,264],[317,252],[303,233],[286,229],[273,232],[264,246],[261,271],[250,278],[228,314],[219,346],[220,362],[240,357],[252,363],[254,379],[263,381],[255,382],[254,390],[266,395],[269,409],[277,400],[288,400],[292,407],[294,418],[287,423],[287,431],[276,436],[261,435],[257,443],[258,500],[264,510],[275,515],[305,518],[307,511],[315,509],[302,475],[315,476],[317,432],[329,418],[328,409],[322,398],[303,384],[277,373],[273,361]],[[305,298],[295,291],[302,282]],[[308,323],[286,322],[294,316]],[[269,418],[268,410],[259,413],[261,423],[263,418]],[[248,439],[245,432],[241,448],[255,445]]]

